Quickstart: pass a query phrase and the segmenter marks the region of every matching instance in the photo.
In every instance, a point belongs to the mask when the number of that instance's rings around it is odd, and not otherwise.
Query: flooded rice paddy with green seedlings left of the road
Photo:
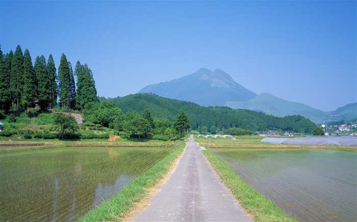
[[[171,151],[81,147],[0,154],[0,221],[74,221]]]

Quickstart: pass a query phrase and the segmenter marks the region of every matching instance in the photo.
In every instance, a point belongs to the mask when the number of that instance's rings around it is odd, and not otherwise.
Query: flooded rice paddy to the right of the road
[[[209,149],[299,221],[357,220],[357,153],[319,149]]]

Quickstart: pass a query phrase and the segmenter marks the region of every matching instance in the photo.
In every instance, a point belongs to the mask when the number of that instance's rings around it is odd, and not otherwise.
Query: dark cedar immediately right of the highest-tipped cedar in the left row
[[[35,102],[35,72],[29,50],[26,49],[23,55],[21,107],[27,109]]]

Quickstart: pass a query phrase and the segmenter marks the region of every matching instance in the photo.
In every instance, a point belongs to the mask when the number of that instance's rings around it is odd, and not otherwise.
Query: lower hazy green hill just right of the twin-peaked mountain
[[[322,122],[326,112],[311,106],[290,102],[263,92],[247,102],[227,101],[225,106],[234,109],[249,109],[275,116],[301,115],[313,122]]]

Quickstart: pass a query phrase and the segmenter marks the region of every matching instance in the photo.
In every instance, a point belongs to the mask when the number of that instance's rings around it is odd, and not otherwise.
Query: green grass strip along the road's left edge
[[[181,143],[177,149],[163,158],[163,160],[126,185],[118,194],[93,210],[90,210],[79,221],[118,221],[123,218],[123,214],[129,211],[135,203],[138,203],[146,195],[147,191],[145,188],[154,186],[163,178],[163,175],[167,173],[185,146],[186,143]]]

